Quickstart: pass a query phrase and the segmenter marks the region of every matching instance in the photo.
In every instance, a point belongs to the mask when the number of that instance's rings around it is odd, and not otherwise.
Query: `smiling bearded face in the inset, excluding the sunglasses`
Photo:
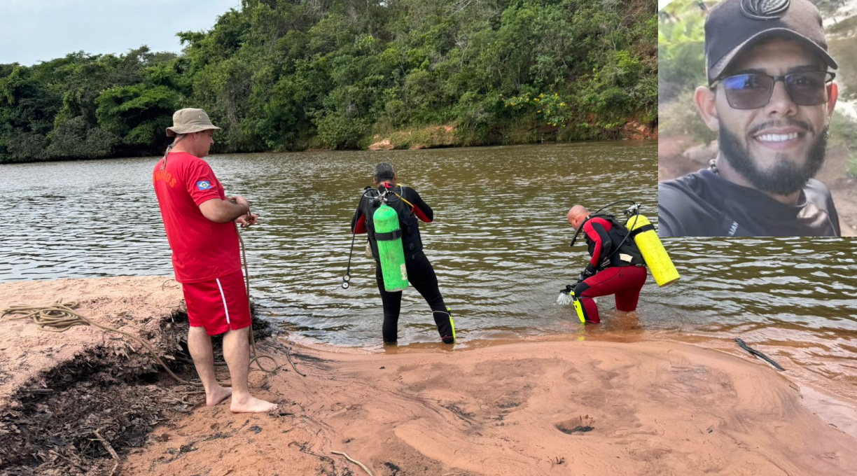
[[[722,77],[734,74],[782,74],[825,71],[824,61],[791,39],[769,39],[737,57]],[[766,93],[766,92],[764,92]],[[783,80],[774,84],[762,107],[731,107],[721,85],[697,90],[697,107],[720,135],[721,155],[748,185],[775,194],[800,190],[824,162],[827,127],[836,104],[836,86],[826,86],[827,101],[798,105]]]

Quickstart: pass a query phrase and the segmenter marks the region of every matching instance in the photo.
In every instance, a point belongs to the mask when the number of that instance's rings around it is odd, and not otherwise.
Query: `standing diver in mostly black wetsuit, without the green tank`
[[[391,164],[375,166],[375,187],[380,192],[387,192],[391,199],[387,205],[393,207],[399,215],[399,226],[402,229],[402,245],[405,248],[405,267],[408,271],[408,281],[419,291],[428,302],[434,316],[434,323],[440,333],[440,339],[447,344],[455,342],[455,330],[449,310],[440,295],[437,276],[434,268],[423,253],[423,240],[417,218],[431,223],[434,211],[426,205],[420,194],[411,187],[396,183],[396,173]],[[378,242],[375,240],[375,223],[372,217],[375,210],[381,206],[378,199],[369,198],[366,194],[360,199],[357,211],[351,220],[351,231],[354,233],[369,233],[369,246],[375,257],[375,279],[381,292],[381,302],[384,304],[384,325],[382,328],[384,342],[395,343],[398,340],[399,310],[402,305],[402,293],[390,293],[384,289],[384,277],[381,274],[381,261],[378,259]]]

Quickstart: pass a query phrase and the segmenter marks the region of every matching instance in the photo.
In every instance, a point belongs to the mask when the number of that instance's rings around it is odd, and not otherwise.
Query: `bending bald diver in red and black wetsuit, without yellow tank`
[[[616,309],[636,310],[646,270],[637,245],[632,238],[626,239],[628,230],[612,216],[590,216],[583,205],[572,206],[568,211],[568,223],[575,229],[583,226],[592,257],[574,287],[586,322],[601,322],[598,306],[592,299],[597,296],[616,295]]]

